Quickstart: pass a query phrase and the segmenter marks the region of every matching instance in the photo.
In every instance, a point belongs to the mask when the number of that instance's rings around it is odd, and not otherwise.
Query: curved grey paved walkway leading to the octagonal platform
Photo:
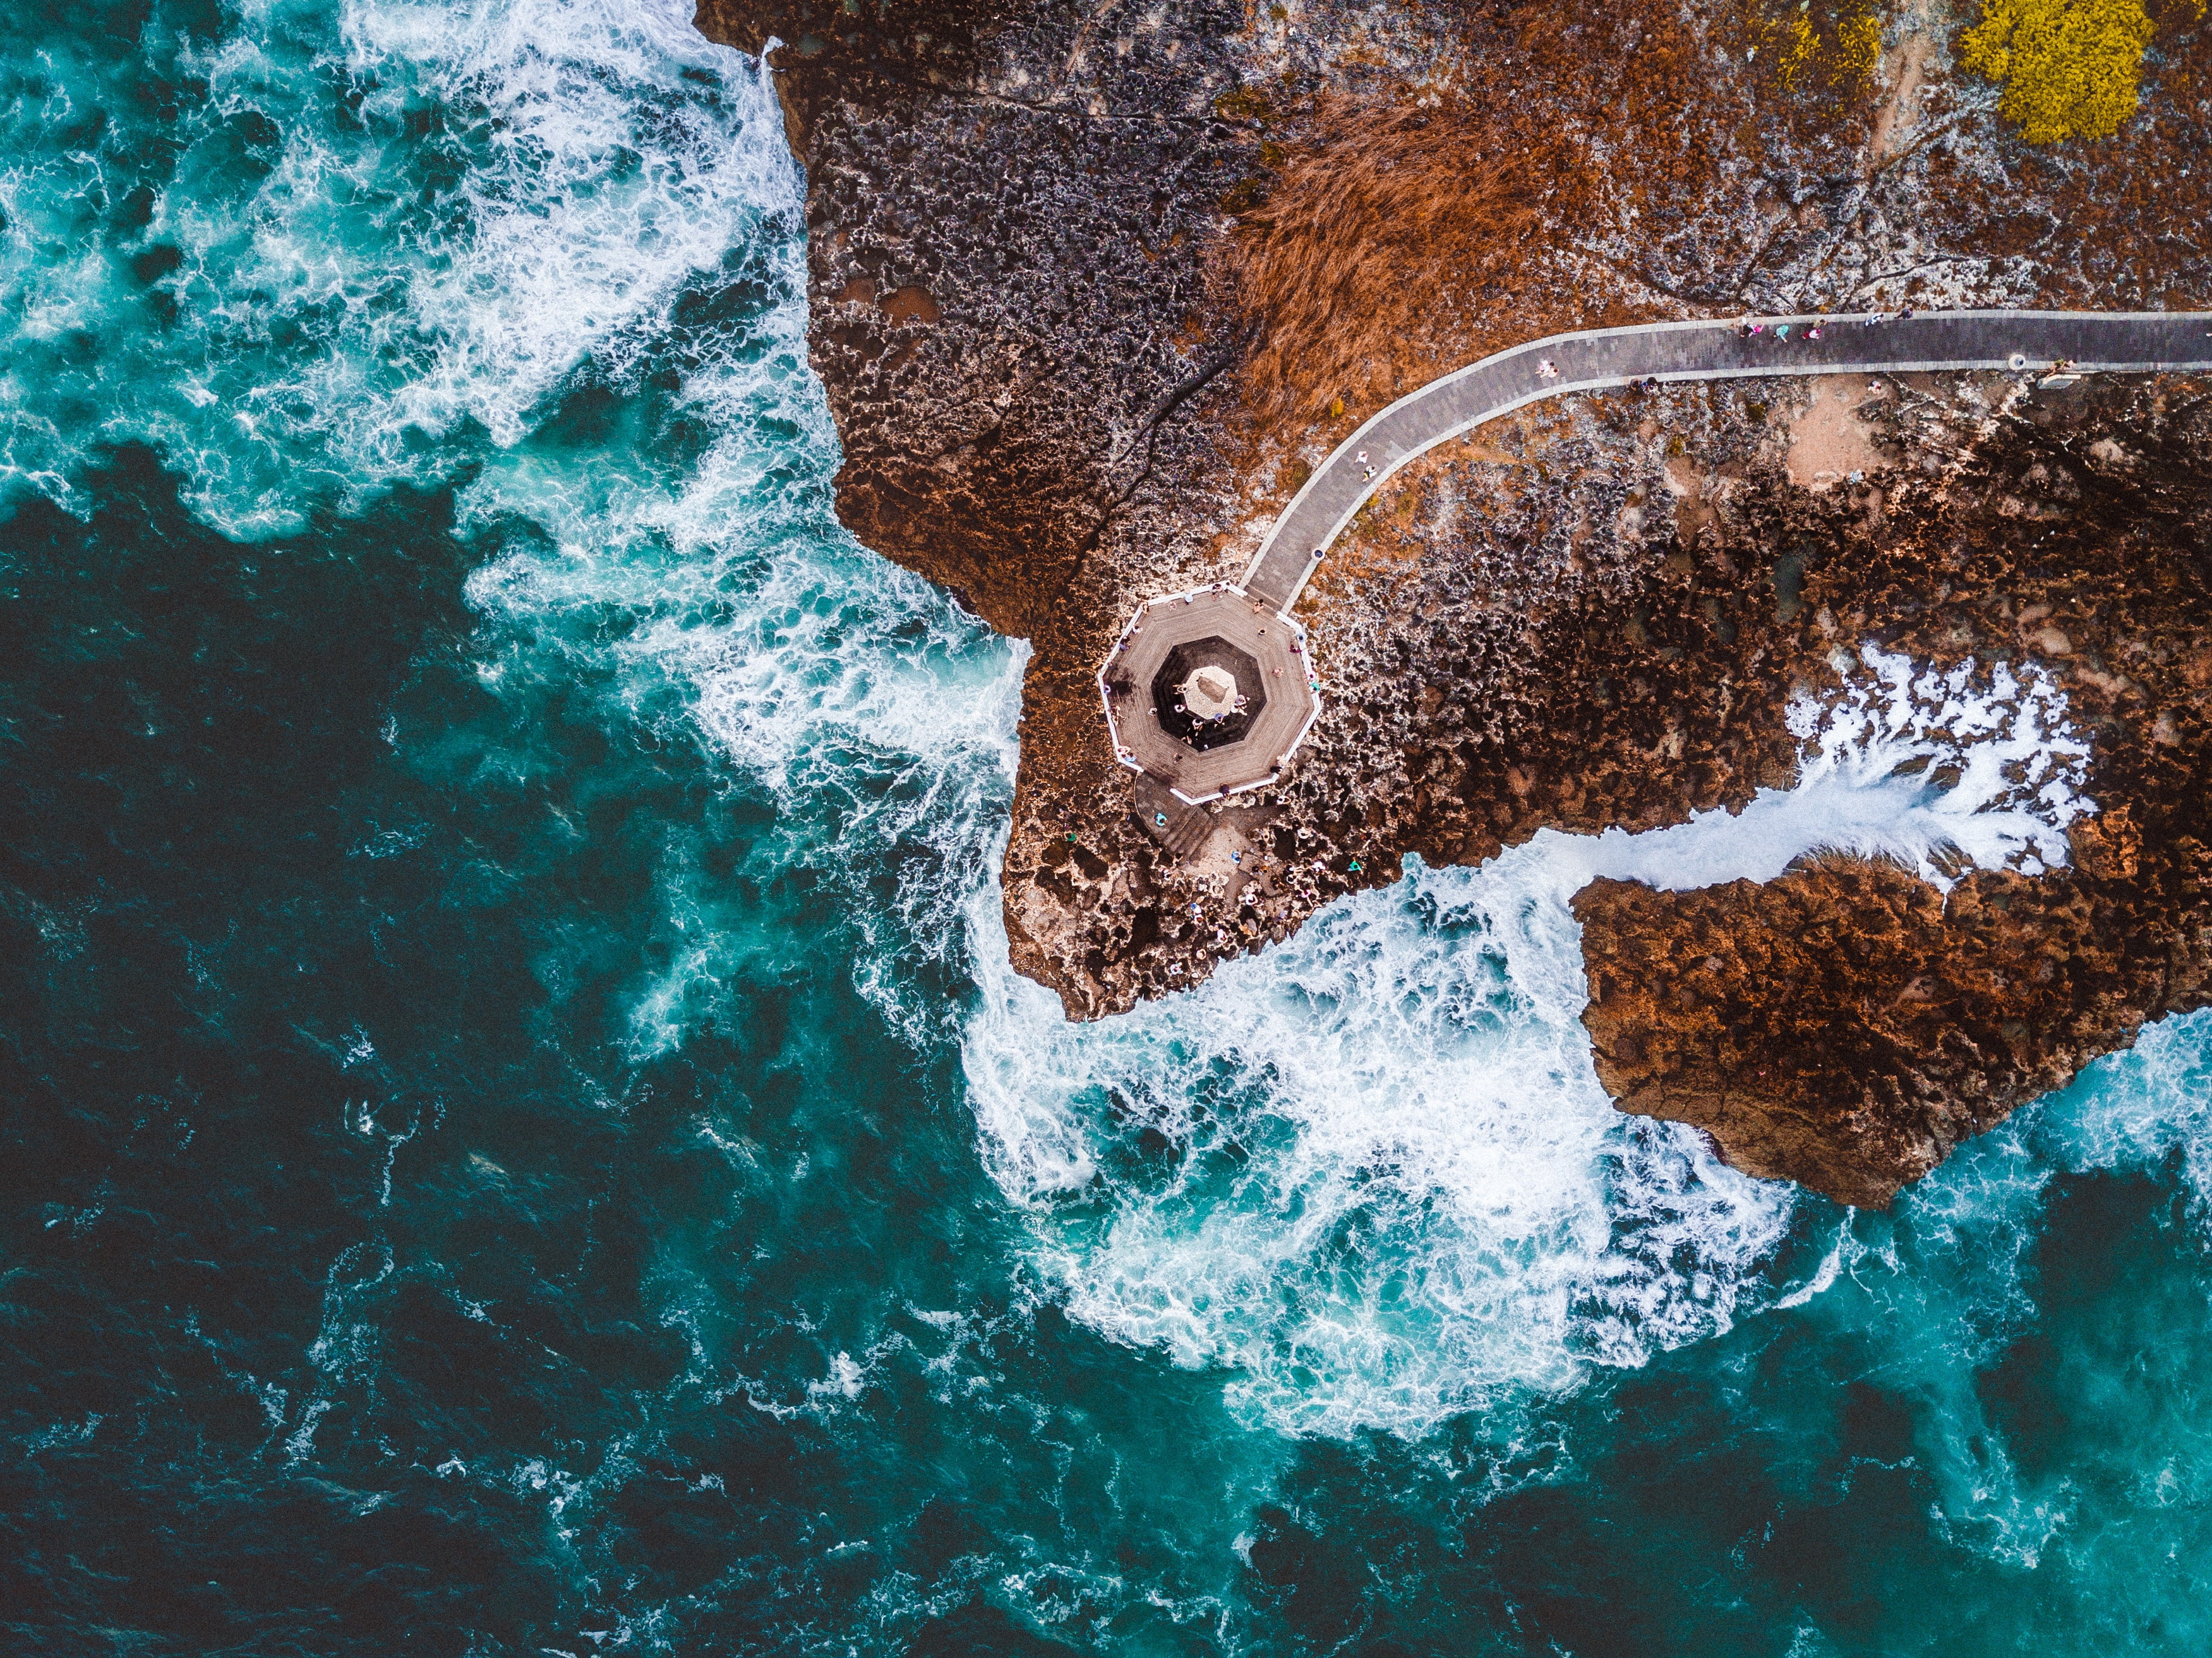
[[[1644,323],[1553,334],[1515,345],[1411,391],[1345,438],[1276,520],[1239,584],[1290,615],[1321,550],[1369,495],[1425,449],[1537,398],[1604,391],[1637,380],[1741,380],[1792,374],[1907,374],[1913,369],[2081,371],[2212,369],[2212,312],[1927,312],[1869,323],[1772,316],[1741,338],[1736,323]],[[1790,338],[1774,327],[1790,327]],[[1548,363],[1555,376],[1540,374]],[[1360,453],[1367,460],[1360,460]],[[1371,475],[1369,475],[1371,473]]]

